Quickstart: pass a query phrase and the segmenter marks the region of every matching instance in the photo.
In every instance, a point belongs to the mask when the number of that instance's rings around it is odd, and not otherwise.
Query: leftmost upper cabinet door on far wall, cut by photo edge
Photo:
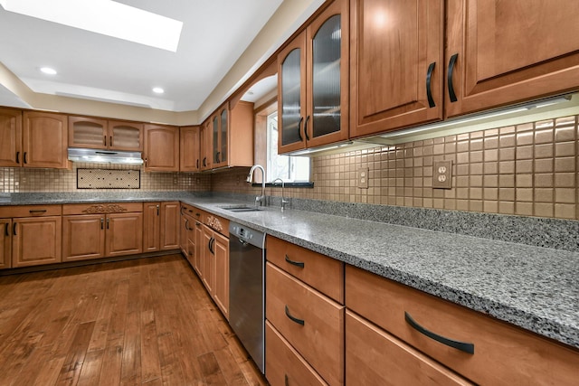
[[[0,108],[0,166],[20,166],[22,160],[22,111]]]

